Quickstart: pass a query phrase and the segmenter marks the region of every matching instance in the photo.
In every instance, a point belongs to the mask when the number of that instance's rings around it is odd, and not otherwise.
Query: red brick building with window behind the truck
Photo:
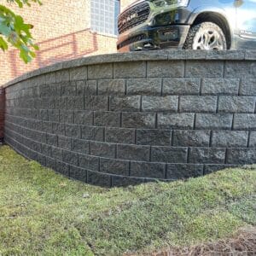
[[[38,67],[85,55],[116,52],[116,20],[121,9],[134,0],[43,0],[43,5],[10,7],[33,24],[40,50],[32,63],[20,61],[19,52],[0,51],[0,85]],[[0,0],[0,4],[7,4]]]

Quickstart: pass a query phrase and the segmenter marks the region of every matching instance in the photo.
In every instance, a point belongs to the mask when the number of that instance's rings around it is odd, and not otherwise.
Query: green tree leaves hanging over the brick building
[[[15,3],[20,8],[24,5],[31,6],[31,3],[42,4],[40,0],[7,0],[8,3]],[[24,62],[32,61],[35,57],[35,50],[38,45],[33,43],[30,30],[31,24],[26,24],[20,15],[6,6],[0,4],[0,48],[5,51],[9,44],[20,50],[20,58]]]

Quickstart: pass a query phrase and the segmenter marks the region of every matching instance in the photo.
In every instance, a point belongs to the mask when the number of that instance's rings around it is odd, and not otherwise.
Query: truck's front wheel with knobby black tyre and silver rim
[[[183,49],[227,49],[222,29],[212,22],[191,26]]]

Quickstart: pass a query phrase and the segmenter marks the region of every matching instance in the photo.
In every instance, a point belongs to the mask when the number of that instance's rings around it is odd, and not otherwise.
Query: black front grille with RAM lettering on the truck
[[[149,4],[146,2],[139,3],[132,6],[130,9],[126,9],[125,12],[119,15],[119,34],[125,32],[133,26],[142,24],[148,19],[149,12]]]

